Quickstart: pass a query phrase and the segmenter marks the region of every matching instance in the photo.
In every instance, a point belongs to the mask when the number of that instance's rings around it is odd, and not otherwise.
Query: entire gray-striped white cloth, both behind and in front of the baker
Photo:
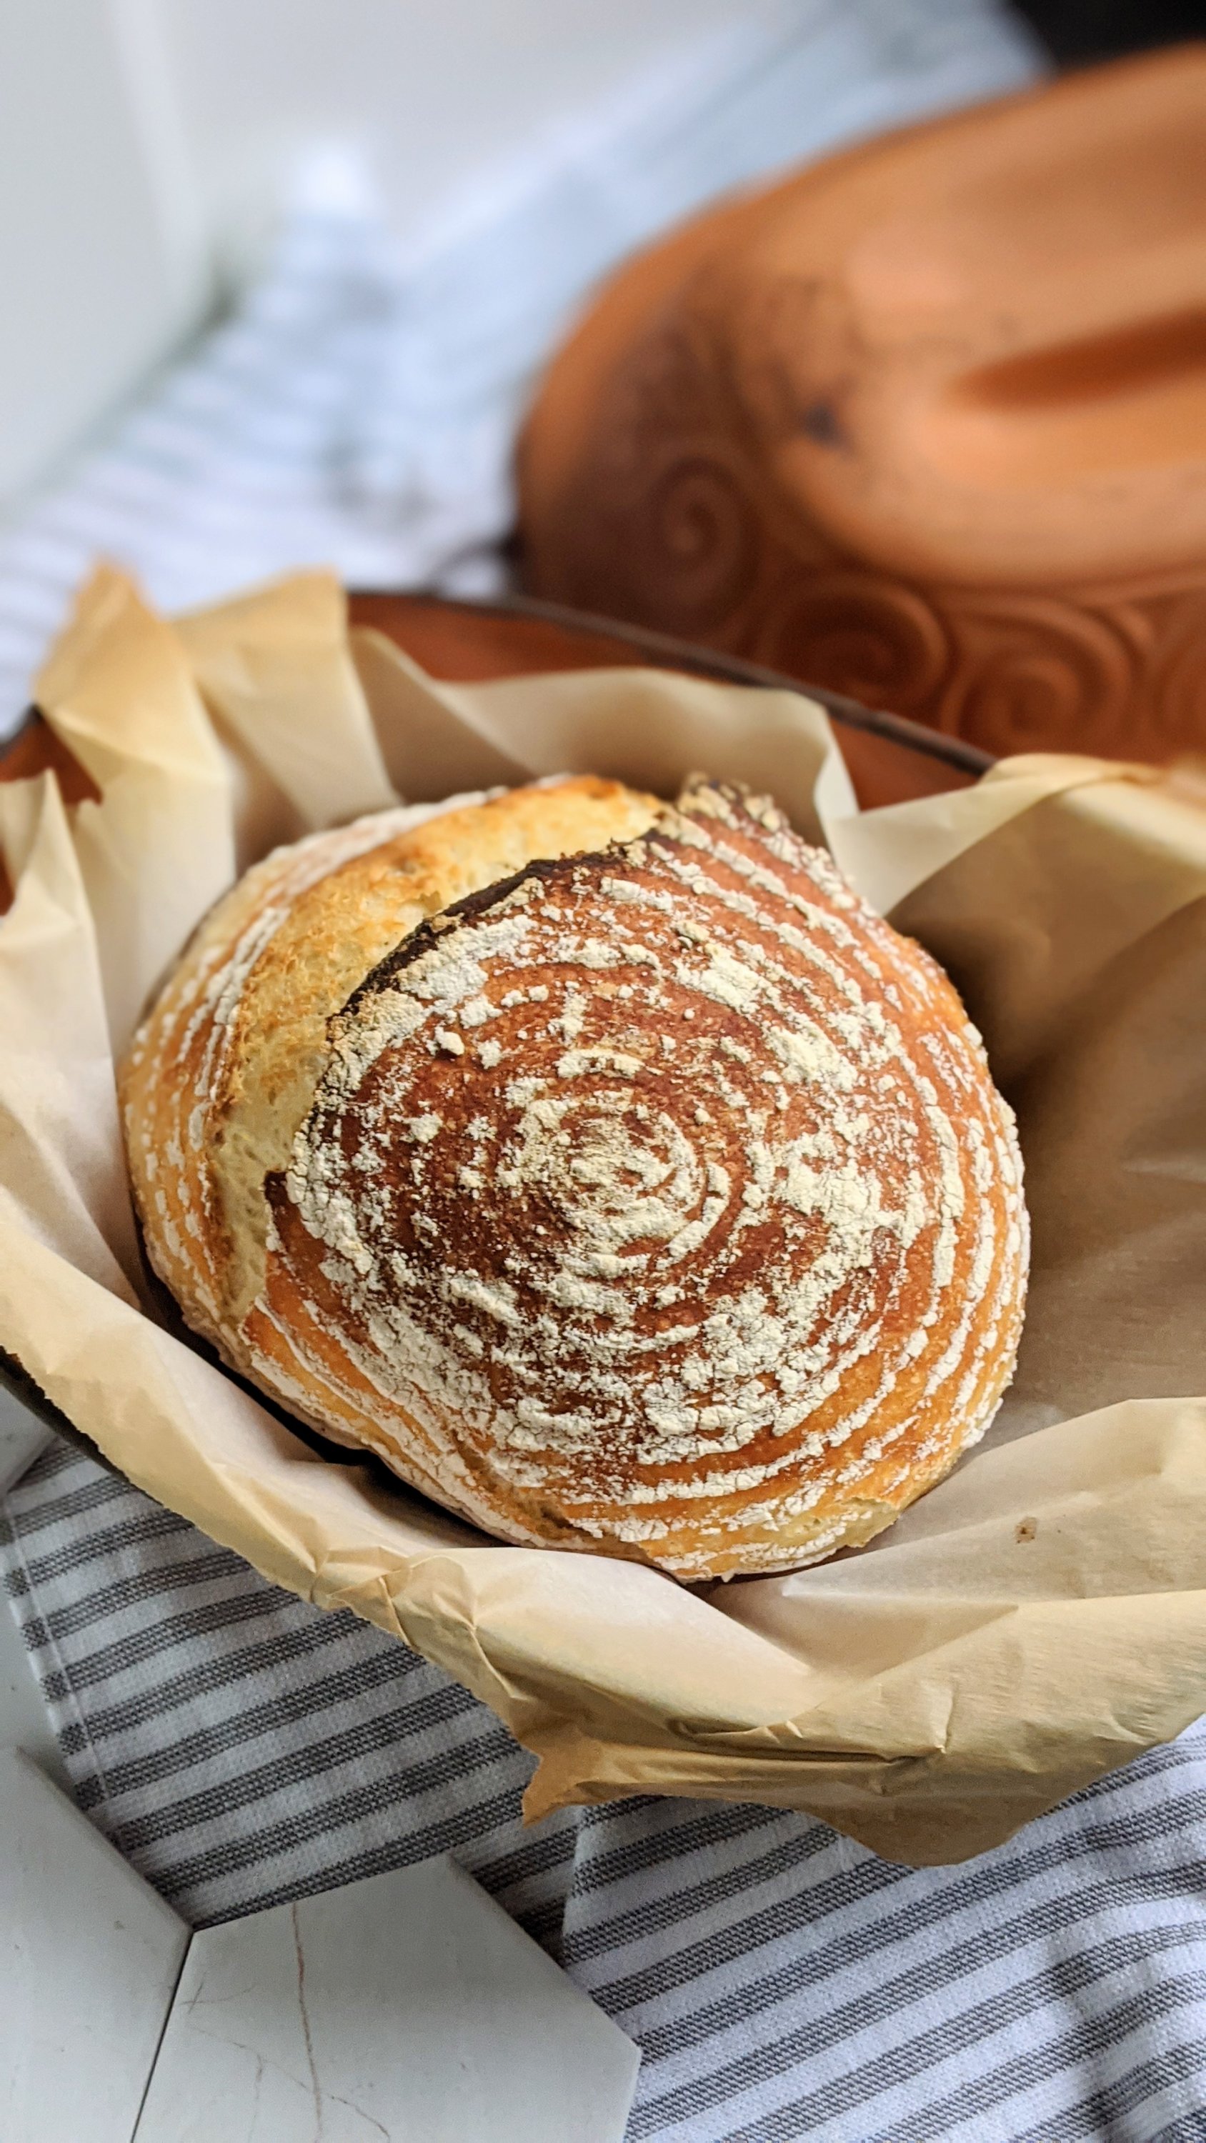
[[[497,576],[514,407],[585,276],[722,182],[1030,69],[973,0],[784,0],[409,266],[311,204],[0,542],[0,726],[96,551],[167,606],[473,544]],[[452,1852],[640,2042],[632,2139],[1206,2143],[1202,1729],[966,1869],[683,1800],[525,1832],[529,1759],[463,1689],[66,1447],[13,1489],[0,1567],[81,1804],[189,1918]]]

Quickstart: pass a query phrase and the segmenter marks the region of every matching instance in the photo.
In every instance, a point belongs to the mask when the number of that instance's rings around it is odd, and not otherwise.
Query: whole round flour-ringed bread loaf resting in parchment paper
[[[506,1541],[816,1560],[1011,1374],[1026,1213],[979,1037],[733,789],[574,778],[278,851],[122,1106],[189,1324]]]

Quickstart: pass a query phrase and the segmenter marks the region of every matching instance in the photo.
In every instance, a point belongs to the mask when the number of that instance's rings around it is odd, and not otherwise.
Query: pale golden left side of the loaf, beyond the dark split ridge
[[[593,776],[377,812],[257,864],[206,917],[120,1074],[144,1239],[186,1320],[240,1369],[263,1284],[263,1179],[289,1159],[326,1022],[426,915],[649,825],[653,797]]]

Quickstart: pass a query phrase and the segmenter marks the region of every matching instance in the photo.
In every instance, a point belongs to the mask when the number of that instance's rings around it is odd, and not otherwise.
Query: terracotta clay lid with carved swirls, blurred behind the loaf
[[[660,240],[536,399],[529,589],[990,752],[1202,752],[1204,131],[1193,45]]]

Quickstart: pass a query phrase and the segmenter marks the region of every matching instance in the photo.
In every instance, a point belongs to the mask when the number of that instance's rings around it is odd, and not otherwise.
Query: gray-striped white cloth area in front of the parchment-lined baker
[[[632,2143],[1206,2137],[1202,1727],[962,1869],[688,1800],[525,1832],[473,1697],[64,1447],[0,1554],[75,1792],[159,1890],[212,1920],[452,1852],[640,2044]]]

